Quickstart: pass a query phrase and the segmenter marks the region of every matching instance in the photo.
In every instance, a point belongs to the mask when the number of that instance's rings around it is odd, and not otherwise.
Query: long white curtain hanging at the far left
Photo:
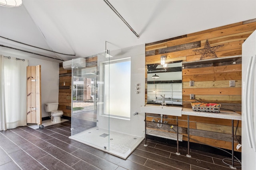
[[[28,60],[0,59],[0,130],[27,125],[26,70]]]

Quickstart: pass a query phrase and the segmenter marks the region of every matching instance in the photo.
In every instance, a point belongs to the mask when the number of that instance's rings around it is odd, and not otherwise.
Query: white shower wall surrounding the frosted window
[[[145,105],[145,45],[137,45],[120,49],[116,51],[110,51],[110,55],[114,56],[113,59],[122,59],[131,57],[131,81],[127,81],[131,84],[131,101],[130,101],[130,120],[104,117],[97,115],[98,127],[110,130],[135,135],[138,137],[144,137],[144,113],[140,113],[140,106]],[[139,84],[139,94],[135,93],[135,84]],[[122,100],[122,96],[120,96]],[[138,115],[133,115],[138,112]],[[108,124],[108,120],[110,121]]]

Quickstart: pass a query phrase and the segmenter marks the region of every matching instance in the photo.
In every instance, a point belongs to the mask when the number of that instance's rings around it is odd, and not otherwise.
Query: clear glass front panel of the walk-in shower
[[[109,116],[105,101],[104,52],[88,58],[72,59],[71,139],[101,150],[109,150]],[[86,61],[86,62],[85,62]]]

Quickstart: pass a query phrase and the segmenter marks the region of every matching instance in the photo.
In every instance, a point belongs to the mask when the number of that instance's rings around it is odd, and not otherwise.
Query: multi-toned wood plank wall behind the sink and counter
[[[224,45],[216,50],[218,58],[242,55],[242,43],[256,29],[256,19],[242,21],[222,27],[216,27],[180,37],[174,37],[154,43],[146,44],[146,64],[160,63],[160,57],[165,55],[167,62],[182,60],[183,62],[198,61],[201,54],[195,49],[204,48],[206,40],[210,46]],[[210,58],[206,58],[210,59]],[[147,70],[147,69],[146,69]],[[147,82],[147,73],[146,81]],[[194,86],[189,86],[189,81]],[[229,87],[229,80],[235,80],[236,86]],[[201,102],[216,102],[222,104],[221,108],[232,109],[241,114],[242,95],[242,61],[236,64],[195,65],[182,70],[182,100],[183,107],[192,108],[190,94]],[[146,84],[147,88],[147,84]],[[145,102],[147,99],[147,90]],[[147,120],[160,118],[156,114],[148,114]],[[167,117],[166,117],[167,118]],[[168,123],[176,124],[176,117],[169,117]],[[183,140],[187,141],[187,116],[179,117],[179,131]],[[237,121],[234,121],[236,126]],[[147,128],[174,133],[170,125],[157,127],[156,123],[147,122]],[[207,143],[224,149],[231,149],[231,121],[207,117],[190,116],[190,140],[195,143]],[[234,129],[236,130],[236,129]],[[236,131],[237,139],[241,142],[241,121]],[[194,139],[194,141],[193,141]],[[235,137],[235,146],[238,143]],[[236,149],[235,149],[236,150]],[[241,149],[236,150],[241,152]]]

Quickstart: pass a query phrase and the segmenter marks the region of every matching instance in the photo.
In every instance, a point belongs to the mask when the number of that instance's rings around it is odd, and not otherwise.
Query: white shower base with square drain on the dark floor
[[[108,131],[99,127],[88,129],[76,135],[72,135],[69,138],[124,159],[126,159],[144,139],[144,137]]]

